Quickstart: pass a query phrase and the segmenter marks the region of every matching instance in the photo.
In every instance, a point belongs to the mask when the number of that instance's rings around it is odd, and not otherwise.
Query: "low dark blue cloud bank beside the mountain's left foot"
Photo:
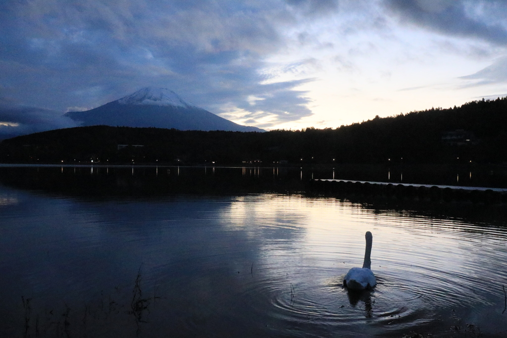
[[[76,122],[58,111],[0,105],[0,139],[71,127],[77,127]]]

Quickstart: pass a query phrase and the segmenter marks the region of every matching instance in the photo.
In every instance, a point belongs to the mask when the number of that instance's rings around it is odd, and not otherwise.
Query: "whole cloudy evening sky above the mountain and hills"
[[[267,130],[507,96],[507,2],[0,2],[0,136],[147,86]]]

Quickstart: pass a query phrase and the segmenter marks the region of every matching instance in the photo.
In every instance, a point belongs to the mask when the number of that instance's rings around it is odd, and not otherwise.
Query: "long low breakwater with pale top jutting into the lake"
[[[310,181],[310,190],[314,193],[347,193],[445,202],[507,203],[507,189],[478,186],[315,179]]]

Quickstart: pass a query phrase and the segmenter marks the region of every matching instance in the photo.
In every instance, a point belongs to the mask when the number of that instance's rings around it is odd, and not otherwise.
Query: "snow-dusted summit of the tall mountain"
[[[146,87],[118,100],[120,104],[194,107],[167,88]]]

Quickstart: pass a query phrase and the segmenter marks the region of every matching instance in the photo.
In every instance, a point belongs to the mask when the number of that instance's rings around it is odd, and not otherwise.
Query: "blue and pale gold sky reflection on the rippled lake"
[[[0,201],[5,335],[23,332],[21,295],[41,314],[104,293],[128,304],[139,267],[147,292],[162,296],[141,336],[507,329],[507,235],[492,224],[299,195],[90,200],[2,187]],[[366,231],[378,285],[348,294],[343,276],[362,264]],[[91,332],[135,336],[125,313]]]

